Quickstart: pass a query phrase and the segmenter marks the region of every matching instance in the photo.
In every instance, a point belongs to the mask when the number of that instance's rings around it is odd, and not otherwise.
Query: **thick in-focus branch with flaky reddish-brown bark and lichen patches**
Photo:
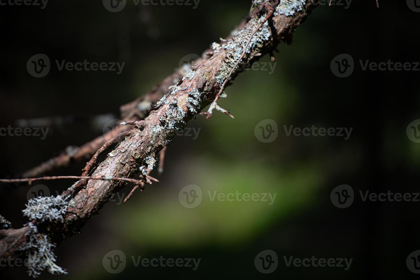
[[[253,0],[254,6],[266,0]],[[278,0],[271,1],[274,15],[252,37],[245,57],[240,65],[252,64],[263,55],[272,53],[280,42],[290,42],[293,31],[315,8],[315,0]],[[155,167],[157,153],[163,149],[179,128],[195,118],[203,108],[214,99],[228,73],[239,59],[250,35],[256,29],[266,13],[253,10],[252,18],[244,24],[231,39],[221,44],[213,43],[213,55],[194,65],[192,71],[173,85],[170,92],[152,107],[144,118],[142,128],[130,131],[123,141],[108,154],[92,173],[92,176],[132,178],[139,170],[151,170]],[[231,81],[242,71],[237,67]],[[169,79],[169,77],[167,78]],[[138,99],[128,105],[128,110],[135,110]],[[213,109],[217,110],[218,107]],[[221,109],[221,108],[220,108]],[[211,112],[211,108],[209,110]],[[105,204],[111,193],[118,192],[125,183],[113,180],[89,180],[84,188],[69,188],[65,194],[72,194],[72,204],[68,206],[62,220],[33,219],[39,232],[45,234],[51,243],[57,245],[64,239],[78,233],[92,215]],[[28,242],[30,226],[20,229],[0,230],[0,255],[16,258],[24,254],[19,246]]]

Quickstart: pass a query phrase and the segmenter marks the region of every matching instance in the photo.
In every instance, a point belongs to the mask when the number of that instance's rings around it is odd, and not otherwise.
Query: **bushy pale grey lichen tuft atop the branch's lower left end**
[[[63,215],[67,212],[67,208],[74,205],[73,199],[68,201],[69,197],[63,198],[58,195],[29,199],[28,204],[26,204],[26,209],[23,209],[22,212],[30,220],[36,219],[41,222],[61,221],[63,220]]]

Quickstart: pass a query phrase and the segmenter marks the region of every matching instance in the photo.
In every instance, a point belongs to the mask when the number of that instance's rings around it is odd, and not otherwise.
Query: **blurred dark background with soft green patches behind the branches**
[[[144,6],[128,1],[111,13],[102,1],[50,1],[34,6],[0,7],[0,126],[19,120],[53,118],[45,139],[2,136],[2,178],[13,176],[101,135],[118,107],[146,93],[178,67],[188,54],[201,55],[226,37],[249,11],[250,1],[201,0],[192,6]],[[420,144],[406,128],[419,119],[419,72],[362,71],[359,60],[420,61],[420,13],[405,1],[354,0],[344,6],[320,5],[299,26],[291,45],[281,44],[276,68],[241,73],[219,102],[232,120],[215,113],[187,127],[192,136],[175,137],[165,172],[129,202],[110,201],[83,228],[55,250],[66,276],[44,272],[40,279],[417,279],[406,265],[420,249],[419,202],[362,202],[359,191],[419,192]],[[37,53],[55,59],[126,62],[120,75],[109,71],[58,71],[44,78],[26,70]],[[356,63],[348,78],[330,69],[336,55]],[[269,57],[261,61],[270,61]],[[262,143],[254,133],[262,120],[278,125],[278,137]],[[21,123],[21,122],[20,122]],[[353,128],[344,137],[287,136],[283,126]],[[79,175],[84,162],[48,175]],[[51,194],[71,180],[39,182]],[[178,201],[181,188],[203,191],[199,207]],[[352,186],[354,203],[335,207],[333,188]],[[26,185],[0,186],[0,213],[18,228]],[[129,193],[124,188],[120,196]],[[262,201],[210,201],[207,191],[276,193]],[[127,257],[123,272],[102,265],[109,251]],[[263,250],[276,251],[275,272],[254,265]],[[142,258],[201,258],[199,267],[135,267]],[[289,258],[353,258],[351,267],[286,267]],[[24,268],[10,268],[1,279],[26,279]]]

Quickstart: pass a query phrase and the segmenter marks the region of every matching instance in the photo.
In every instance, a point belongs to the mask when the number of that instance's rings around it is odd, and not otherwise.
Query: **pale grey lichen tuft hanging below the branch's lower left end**
[[[55,264],[56,256],[53,252],[55,247],[47,236],[38,233],[38,228],[29,222],[29,230],[26,233],[28,241],[24,242],[20,250],[26,251],[28,275],[38,277],[42,271],[48,270],[51,274],[67,274],[66,270]]]

